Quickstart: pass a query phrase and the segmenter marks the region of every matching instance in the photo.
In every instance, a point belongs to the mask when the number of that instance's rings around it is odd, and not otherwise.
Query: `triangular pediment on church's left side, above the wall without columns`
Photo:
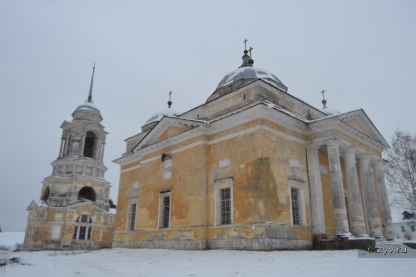
[[[171,118],[165,116],[152,128],[152,130],[139,142],[139,144],[134,147],[133,151],[179,135],[203,124],[203,120]]]

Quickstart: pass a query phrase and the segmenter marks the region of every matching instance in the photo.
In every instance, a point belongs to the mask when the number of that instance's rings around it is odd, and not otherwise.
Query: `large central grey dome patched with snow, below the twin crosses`
[[[257,78],[270,78],[277,83],[283,85],[282,81],[279,80],[275,75],[271,74],[269,71],[257,66],[243,66],[235,69],[224,76],[224,78],[218,83],[217,89],[223,86],[227,86],[230,83],[233,83],[240,79],[257,79]]]

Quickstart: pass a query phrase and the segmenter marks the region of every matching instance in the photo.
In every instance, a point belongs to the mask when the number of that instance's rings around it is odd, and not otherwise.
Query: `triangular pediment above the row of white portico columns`
[[[374,124],[371,122],[370,118],[367,116],[364,110],[360,109],[349,113],[343,113],[342,115],[339,115],[338,119],[354,127],[365,135],[372,137],[374,140],[380,142],[386,147],[389,147],[387,141],[380,134],[379,130],[377,130],[376,126],[374,126]]]

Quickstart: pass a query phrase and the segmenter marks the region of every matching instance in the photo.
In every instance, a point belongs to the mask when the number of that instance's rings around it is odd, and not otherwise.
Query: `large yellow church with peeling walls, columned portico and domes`
[[[312,107],[247,50],[206,103],[186,113],[168,104],[114,161],[113,247],[311,249],[394,238],[389,145],[364,110]]]

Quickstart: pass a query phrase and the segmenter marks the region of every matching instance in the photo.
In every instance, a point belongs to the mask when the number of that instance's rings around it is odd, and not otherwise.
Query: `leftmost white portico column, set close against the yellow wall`
[[[327,237],[325,228],[324,199],[322,195],[321,172],[319,169],[319,145],[307,146],[307,162],[309,172],[309,189],[311,193],[313,233],[319,237]]]

